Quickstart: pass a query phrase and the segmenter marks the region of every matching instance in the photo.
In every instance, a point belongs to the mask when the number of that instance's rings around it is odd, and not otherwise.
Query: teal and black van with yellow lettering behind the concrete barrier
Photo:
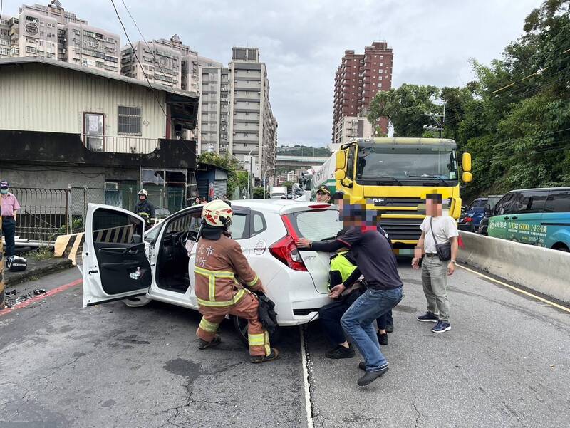
[[[570,251],[570,187],[513,190],[491,214],[489,236]]]

